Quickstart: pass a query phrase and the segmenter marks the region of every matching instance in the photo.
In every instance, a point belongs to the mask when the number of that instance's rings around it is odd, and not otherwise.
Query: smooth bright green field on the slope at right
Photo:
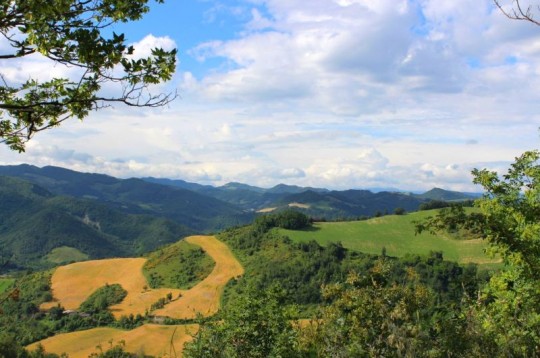
[[[321,222],[315,223],[310,230],[282,232],[297,242],[315,240],[322,245],[341,242],[348,249],[370,254],[380,254],[383,248],[386,248],[387,255],[398,257],[442,251],[445,259],[460,263],[497,262],[484,253],[486,244],[481,239],[456,240],[449,235],[435,236],[429,233],[415,235],[413,221],[434,214],[429,210],[365,221]]]

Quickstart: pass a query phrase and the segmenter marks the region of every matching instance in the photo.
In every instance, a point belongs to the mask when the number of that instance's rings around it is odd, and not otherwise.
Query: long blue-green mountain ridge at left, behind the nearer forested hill
[[[231,203],[193,190],[141,179],[117,179],[31,165],[0,166],[0,175],[29,180],[54,194],[95,199],[127,213],[168,218],[197,231],[221,230],[252,220],[252,214]]]

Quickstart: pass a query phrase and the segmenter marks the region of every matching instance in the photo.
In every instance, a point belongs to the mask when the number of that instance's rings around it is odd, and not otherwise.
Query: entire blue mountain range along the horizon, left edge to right
[[[123,212],[167,218],[198,232],[250,223],[257,211],[294,207],[317,219],[355,219],[393,213],[398,208],[416,211],[430,200],[471,198],[468,194],[442,189],[418,195],[352,189],[330,191],[285,184],[268,189],[242,183],[214,187],[183,180],[118,179],[52,166],[0,166],[0,175],[31,181],[57,195],[94,199]]]

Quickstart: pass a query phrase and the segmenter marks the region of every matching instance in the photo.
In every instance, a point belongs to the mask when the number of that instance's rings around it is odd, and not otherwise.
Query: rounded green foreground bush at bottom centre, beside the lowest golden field
[[[203,322],[183,355],[195,357],[293,357],[296,331],[283,292],[250,290],[219,315]]]

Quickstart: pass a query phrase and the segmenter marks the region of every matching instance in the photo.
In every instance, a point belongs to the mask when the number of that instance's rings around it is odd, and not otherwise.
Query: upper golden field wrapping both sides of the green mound
[[[216,262],[210,275],[190,290],[148,289],[142,273],[146,262],[143,258],[85,261],[56,269],[52,277],[54,301],[43,304],[41,308],[48,309],[60,303],[67,310],[76,310],[98,288],[107,283],[118,283],[128,294],[121,303],[111,306],[116,318],[129,314],[144,315],[153,303],[169,292],[173,301],[163,309],[153,311],[155,315],[173,318],[195,318],[197,313],[212,315],[219,308],[227,282],[242,275],[244,269],[227,245],[213,236],[191,236],[185,240],[201,246]]]

